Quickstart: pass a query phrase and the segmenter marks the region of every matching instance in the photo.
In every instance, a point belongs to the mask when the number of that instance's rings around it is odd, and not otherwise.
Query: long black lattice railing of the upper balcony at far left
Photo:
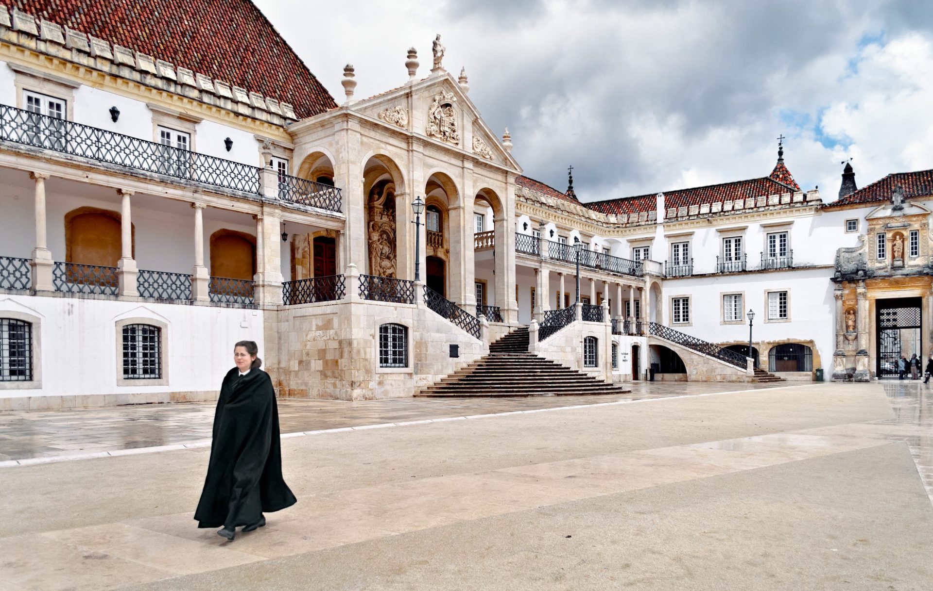
[[[259,194],[259,169],[0,104],[0,140]]]

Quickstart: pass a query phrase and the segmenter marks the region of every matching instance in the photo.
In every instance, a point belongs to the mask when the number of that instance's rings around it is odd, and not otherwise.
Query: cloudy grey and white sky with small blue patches
[[[508,127],[526,175],[583,200],[765,176],[784,134],[804,189],[836,199],[843,158],[858,186],[933,168],[933,2],[256,0],[341,102],[444,66]]]

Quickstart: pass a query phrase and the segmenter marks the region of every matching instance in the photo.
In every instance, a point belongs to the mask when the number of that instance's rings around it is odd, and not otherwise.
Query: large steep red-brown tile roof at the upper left
[[[35,17],[230,82],[298,117],[337,106],[249,0],[0,0]]]

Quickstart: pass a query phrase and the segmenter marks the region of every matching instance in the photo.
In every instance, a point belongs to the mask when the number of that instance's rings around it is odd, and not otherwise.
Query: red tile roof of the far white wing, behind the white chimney
[[[768,195],[781,195],[792,191],[792,187],[774,181],[765,176],[747,181],[732,181],[719,185],[696,186],[688,189],[664,191],[664,207],[689,207],[703,203],[731,201],[735,199],[748,199],[749,197],[763,197]],[[639,195],[637,197],[624,197],[621,199],[608,199],[606,201],[592,201],[584,203],[596,212],[602,213],[640,213],[650,212],[656,207],[656,193]]]

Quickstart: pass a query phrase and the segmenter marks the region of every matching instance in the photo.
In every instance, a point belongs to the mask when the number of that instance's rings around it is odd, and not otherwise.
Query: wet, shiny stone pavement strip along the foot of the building
[[[563,406],[765,390],[791,384],[794,382],[638,381],[627,385],[632,390],[628,394],[602,396],[391,398],[360,402],[280,399],[279,423],[283,434],[305,433]],[[215,405],[213,402],[174,403],[0,412],[0,462],[80,458],[119,450],[202,444],[211,438]]]

